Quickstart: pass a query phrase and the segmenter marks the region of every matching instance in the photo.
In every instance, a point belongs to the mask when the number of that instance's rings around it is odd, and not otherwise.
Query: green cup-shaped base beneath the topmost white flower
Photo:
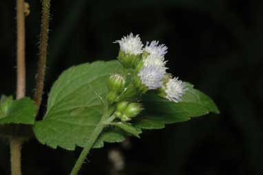
[[[125,52],[121,50],[118,53],[118,60],[125,68],[135,68],[140,59],[140,54],[125,54]]]

